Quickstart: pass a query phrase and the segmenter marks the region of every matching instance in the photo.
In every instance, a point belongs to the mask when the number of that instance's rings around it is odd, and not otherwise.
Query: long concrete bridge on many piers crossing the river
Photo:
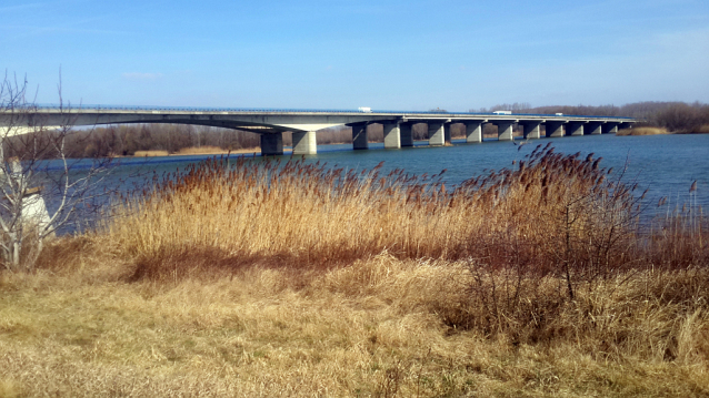
[[[510,112],[400,112],[333,110],[268,110],[268,109],[207,109],[207,108],[142,108],[142,106],[37,106],[20,111],[0,111],[0,126],[21,129],[59,125],[100,125],[123,123],[177,123],[236,129],[258,133],[262,155],[283,154],[283,132],[292,133],[294,155],[317,153],[316,132],[321,129],[348,125],[352,127],[354,150],[369,147],[369,124],[383,126],[385,147],[413,146],[413,124],[428,125],[429,145],[450,142],[450,126],[463,124],[466,141],[482,142],[486,123],[498,127],[498,140],[513,140],[513,127],[522,126],[525,139],[545,136],[588,135],[615,133],[630,127],[637,121],[617,116],[583,116],[565,114],[525,114]],[[18,130],[19,131],[19,130]]]

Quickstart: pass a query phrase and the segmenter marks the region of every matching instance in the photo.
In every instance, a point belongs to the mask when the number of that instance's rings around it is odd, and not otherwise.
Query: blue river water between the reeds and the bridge
[[[518,140],[517,143],[520,141]],[[601,165],[613,167],[618,174],[625,170],[627,182],[636,181],[639,186],[649,188],[652,197],[668,196],[687,198],[692,182],[698,184],[698,201],[707,204],[709,191],[709,134],[616,136],[586,135],[558,139],[530,140],[528,144],[515,145],[509,141],[490,140],[483,143],[468,144],[453,141],[453,146],[430,147],[426,142],[417,142],[413,147],[385,150],[382,143],[370,144],[366,151],[352,151],[350,144],[319,145],[317,155],[304,156],[306,162],[326,162],[329,166],[346,169],[371,169],[380,162],[382,172],[403,169],[409,174],[437,174],[446,170],[443,181],[457,184],[490,170],[512,167],[512,161],[522,160],[538,144],[551,142],[555,151],[567,154],[581,152],[583,156],[593,153],[602,157]],[[232,155],[236,157],[237,155]],[[123,159],[116,177],[130,173],[154,171],[173,172],[190,163],[200,162],[210,156],[167,156]],[[290,155],[270,159],[288,161]],[[296,156],[301,159],[303,156]],[[263,161],[257,156],[254,161]]]

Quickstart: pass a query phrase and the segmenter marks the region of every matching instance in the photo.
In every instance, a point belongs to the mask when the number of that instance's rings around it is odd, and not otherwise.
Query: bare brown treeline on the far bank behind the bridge
[[[641,120],[641,125],[665,127],[675,133],[709,133],[709,105],[683,102],[638,102],[622,106],[538,106],[528,103],[501,104],[490,109],[470,110],[471,112],[513,111],[515,113],[565,113],[577,115],[628,116]],[[445,112],[437,109],[437,111]],[[412,127],[415,140],[427,140],[425,124]],[[497,135],[497,127],[486,124],[483,134]],[[516,134],[521,134],[517,129]],[[453,125],[452,137],[465,136],[465,126]],[[371,142],[383,141],[383,127],[380,124],[369,126]],[[318,132],[319,144],[351,143],[351,129],[338,126]],[[291,134],[283,134],[283,144],[291,145]],[[198,126],[188,124],[122,124],[96,126],[91,130],[77,130],[67,135],[64,151],[69,157],[131,156],[137,151],[167,151],[177,153],[188,147],[212,146],[222,150],[244,150],[260,146],[259,135],[251,132]],[[13,152],[10,150],[10,153]],[[49,156],[51,157],[51,156]]]

